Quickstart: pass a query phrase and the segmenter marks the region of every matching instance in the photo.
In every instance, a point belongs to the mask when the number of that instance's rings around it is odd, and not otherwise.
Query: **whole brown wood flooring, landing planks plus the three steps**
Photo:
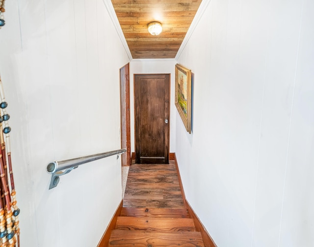
[[[204,247],[184,207],[174,161],[131,165],[109,247]]]

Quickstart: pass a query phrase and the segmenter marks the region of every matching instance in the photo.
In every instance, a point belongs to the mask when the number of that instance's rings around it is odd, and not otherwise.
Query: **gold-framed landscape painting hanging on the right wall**
[[[191,70],[176,64],[175,105],[186,131],[191,134]]]

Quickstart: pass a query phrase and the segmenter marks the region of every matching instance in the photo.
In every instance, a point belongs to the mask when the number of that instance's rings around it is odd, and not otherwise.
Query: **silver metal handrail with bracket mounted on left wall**
[[[78,168],[78,165],[83,165],[85,163],[103,159],[112,155],[120,155],[127,151],[127,149],[118,149],[114,151],[109,151],[100,154],[93,154],[83,157],[78,157],[70,160],[64,161],[52,161],[47,165],[47,172],[52,174],[49,190],[56,187],[59,183],[60,176],[68,174],[73,169]]]

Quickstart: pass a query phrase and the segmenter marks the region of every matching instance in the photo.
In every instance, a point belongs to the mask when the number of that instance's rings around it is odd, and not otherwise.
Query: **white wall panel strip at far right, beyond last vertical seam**
[[[314,4],[303,1],[296,61],[294,98],[290,123],[280,247],[310,246],[314,243],[313,184],[313,93]],[[309,80],[310,79],[310,80]],[[312,80],[313,81],[313,80]],[[312,114],[310,113],[312,112]],[[295,165],[298,164],[298,165]]]

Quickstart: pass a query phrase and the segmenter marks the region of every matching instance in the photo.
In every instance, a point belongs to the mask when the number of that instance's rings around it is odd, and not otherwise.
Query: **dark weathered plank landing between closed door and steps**
[[[123,207],[184,208],[174,161],[169,165],[131,165]]]

